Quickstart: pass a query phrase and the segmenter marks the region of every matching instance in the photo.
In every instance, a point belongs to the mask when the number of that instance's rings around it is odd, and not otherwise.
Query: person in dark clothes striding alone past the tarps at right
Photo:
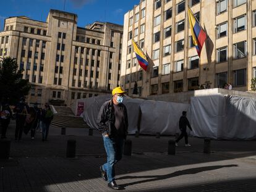
[[[177,138],[177,140],[175,141],[175,145],[178,146],[178,142],[179,140],[181,140],[184,136],[185,136],[185,146],[189,147],[191,146],[189,144],[189,141],[187,139],[187,127],[189,127],[189,129],[192,131],[192,128],[190,126],[189,120],[187,119],[187,112],[186,111],[182,111],[182,116],[179,119],[179,129],[181,130],[181,135],[179,136],[179,138]]]

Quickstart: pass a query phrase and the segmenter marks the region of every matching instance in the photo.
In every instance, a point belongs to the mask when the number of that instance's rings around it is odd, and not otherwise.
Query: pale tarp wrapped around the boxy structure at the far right
[[[191,98],[192,134],[225,140],[256,138],[256,100],[237,96]]]

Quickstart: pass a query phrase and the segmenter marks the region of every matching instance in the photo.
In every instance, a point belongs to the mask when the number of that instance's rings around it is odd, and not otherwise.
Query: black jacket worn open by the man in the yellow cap
[[[112,99],[106,101],[100,109],[98,114],[98,131],[101,133],[107,133],[110,137],[117,136],[116,127],[114,126],[115,117],[114,117],[114,106]],[[124,138],[127,136],[128,130],[128,116],[127,109],[124,104],[119,104],[122,107],[123,117],[124,117]]]

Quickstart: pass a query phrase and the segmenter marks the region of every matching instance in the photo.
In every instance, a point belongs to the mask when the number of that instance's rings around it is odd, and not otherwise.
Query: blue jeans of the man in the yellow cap
[[[124,149],[124,138],[109,138],[103,136],[104,146],[107,154],[107,162],[103,165],[103,170],[108,175],[108,182],[114,181],[114,164],[122,159]]]

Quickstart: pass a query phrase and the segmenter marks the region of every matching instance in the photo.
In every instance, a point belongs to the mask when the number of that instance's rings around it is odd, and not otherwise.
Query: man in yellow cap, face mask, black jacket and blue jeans
[[[127,136],[127,109],[122,100],[125,91],[121,87],[114,88],[113,98],[106,101],[98,114],[98,130],[103,136],[107,154],[107,162],[100,166],[101,177],[108,181],[108,187],[121,190],[115,182],[114,164],[122,159],[124,140]]]

